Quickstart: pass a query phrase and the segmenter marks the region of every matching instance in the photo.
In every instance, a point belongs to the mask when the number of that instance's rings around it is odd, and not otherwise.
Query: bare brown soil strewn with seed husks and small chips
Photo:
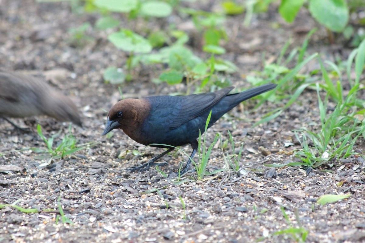
[[[299,148],[299,143],[293,131],[319,124],[316,94],[309,90],[280,117],[266,124],[252,126],[262,114],[283,106],[283,101],[266,102],[253,111],[250,108],[255,101],[245,102],[208,130],[209,141],[216,132],[228,139],[227,130],[231,130],[237,145],[244,142],[241,174],[223,171],[195,181],[192,172],[181,178],[182,183],[174,183],[155,168],[128,172],[126,168],[146,162],[164,150],[145,148],[121,131],[115,131],[111,138],[101,137],[106,111],[120,99],[118,87],[104,83],[103,71],[112,65],[122,67],[126,56],[107,41],[104,31],[89,30],[88,35],[93,38],[81,47],[69,42],[68,31],[85,21],[94,23],[97,17],[77,15],[68,3],[0,0],[0,67],[45,76],[52,86],[69,94],[84,122],[83,128],[72,126],[72,133],[80,144],[97,143],[76,156],[41,166],[47,160],[24,149],[45,147],[37,134],[37,124],[42,125],[47,137],[59,130],[64,136],[69,124],[47,117],[14,119],[16,124],[32,130],[23,134],[0,121],[0,204],[17,201],[23,208],[54,209],[30,214],[9,207],[1,209],[0,242],[289,242],[294,241],[289,233],[274,233],[300,226],[308,231],[308,242],[364,242],[365,180],[361,157],[335,161],[332,168],[327,168],[331,171],[315,169],[308,174],[298,167],[270,170],[264,166],[295,161],[290,154]],[[188,26],[180,17],[170,21]],[[224,58],[240,70],[230,79],[241,88],[250,87],[245,75],[262,69],[263,53],[265,60],[273,60],[289,38],[293,39],[292,47],[298,46],[315,27],[306,11],[301,11],[295,23],[289,25],[274,8],[255,16],[249,27],[244,27],[242,21],[242,16],[227,20],[231,41],[224,46]],[[273,29],[273,23],[281,27]],[[149,23],[151,27],[155,24]],[[338,52],[338,48],[328,46],[323,30],[312,39],[310,52],[323,53],[327,59],[334,60],[340,54],[345,59],[350,52],[342,48]],[[197,46],[191,47],[193,52],[204,56]],[[138,78],[122,85],[124,98],[186,90],[185,84],[156,86],[150,80],[158,77],[160,71],[136,69],[134,75]],[[359,141],[355,148],[362,151],[363,142]],[[288,143],[292,145],[286,147]],[[188,146],[182,149],[191,152]],[[135,156],[133,150],[140,155]],[[228,150],[234,152],[237,153]],[[164,156],[160,162],[168,162],[168,166],[162,170],[167,174],[177,171],[186,159],[178,152]],[[208,170],[220,168],[226,168],[226,164],[216,146]],[[342,186],[338,182],[343,182]],[[154,188],[161,189],[159,193],[143,194]],[[351,196],[333,204],[316,204],[320,195],[340,193]],[[72,225],[55,222],[59,196]]]

